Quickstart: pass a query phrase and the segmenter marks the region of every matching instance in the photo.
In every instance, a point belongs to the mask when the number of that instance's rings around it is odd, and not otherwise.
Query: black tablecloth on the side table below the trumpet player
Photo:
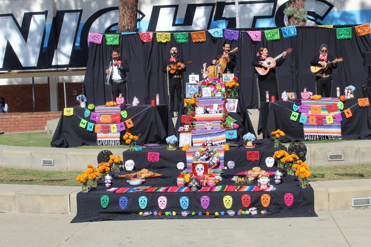
[[[168,114],[166,105],[157,105],[154,107],[148,107],[149,105],[141,106],[129,106],[125,110],[128,113],[128,117],[124,119],[121,117],[121,121],[125,121],[135,116],[132,121],[134,127],[130,128],[130,131],[134,135],[141,134],[138,145],[145,143],[166,143],[166,137],[175,135],[174,124],[171,117]],[[85,108],[73,107],[73,116],[62,116],[59,119],[58,126],[52,138],[50,146],[52,147],[79,147],[82,145],[96,146],[96,133],[81,128],[79,126],[81,118],[88,122],[94,123],[90,118],[84,117]],[[77,116],[75,116],[75,114]],[[120,133],[121,144],[125,145],[122,136],[126,132]]]

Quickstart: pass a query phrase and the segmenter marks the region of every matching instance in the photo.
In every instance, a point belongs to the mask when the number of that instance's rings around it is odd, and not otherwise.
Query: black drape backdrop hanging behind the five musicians
[[[358,36],[352,28],[352,39],[337,39],[335,28],[296,27],[296,30],[297,36],[283,38],[280,33],[280,39],[276,41],[267,41],[263,31],[261,42],[252,41],[247,32],[240,32],[237,41],[230,41],[232,48],[238,47],[234,74],[239,77],[240,96],[246,107],[257,108],[256,74],[251,61],[261,46],[268,48],[270,57],[275,57],[290,47],[293,49],[292,54],[287,55],[285,63],[276,70],[280,93],[285,90],[296,92],[299,96],[304,87],[315,93],[315,76],[309,70],[310,61],[313,56],[319,54],[319,46],[325,43],[329,46],[330,55],[344,58],[344,62],[338,63],[338,69],[333,70],[332,96],[336,96],[336,86],[344,92],[346,86],[353,85],[358,90],[355,96],[363,97],[361,84],[367,81],[368,70],[363,66],[362,54],[371,51],[370,35]],[[160,43],[154,33],[152,42],[142,42],[138,34],[127,34],[120,35],[119,46],[106,45],[105,36],[101,44],[89,43],[89,59],[84,80],[89,103],[101,105],[111,99],[110,86],[104,85],[104,71],[108,68],[112,49],[118,48],[121,57],[129,62],[129,102],[137,96],[141,104],[149,104],[159,93],[160,103],[166,104],[167,82],[161,67],[162,61],[170,58],[170,47],[177,45],[178,55],[185,61],[192,61],[184,73],[183,83],[186,83],[192,72],[199,74],[201,78],[202,63],[209,64],[218,52],[222,54],[222,44],[225,41],[213,38],[207,31],[205,42],[194,43],[190,34],[188,39],[188,43],[176,43],[174,36],[171,36],[170,42]]]

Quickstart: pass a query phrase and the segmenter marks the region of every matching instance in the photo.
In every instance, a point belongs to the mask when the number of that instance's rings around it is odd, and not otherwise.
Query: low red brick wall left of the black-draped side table
[[[58,119],[61,111],[35,113],[1,113],[0,131],[5,133],[45,130],[46,121]]]

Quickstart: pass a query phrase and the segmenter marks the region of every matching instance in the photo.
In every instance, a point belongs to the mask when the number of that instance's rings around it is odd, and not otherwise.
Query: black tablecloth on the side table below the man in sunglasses
[[[270,139],[270,133],[280,129],[285,132],[285,137],[280,138],[281,141],[304,141],[303,124],[299,123],[299,118],[297,121],[290,120],[293,104],[294,101],[291,100],[262,102],[258,134],[262,133],[263,138]],[[343,111],[350,107],[353,116],[347,119]],[[347,99],[344,102],[341,117],[341,137],[343,140],[371,139],[371,107],[359,107],[358,99]]]

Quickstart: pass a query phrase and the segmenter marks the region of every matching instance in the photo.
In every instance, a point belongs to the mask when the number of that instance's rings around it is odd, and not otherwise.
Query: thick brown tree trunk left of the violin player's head
[[[119,19],[117,32],[137,31],[138,0],[119,0]]]

